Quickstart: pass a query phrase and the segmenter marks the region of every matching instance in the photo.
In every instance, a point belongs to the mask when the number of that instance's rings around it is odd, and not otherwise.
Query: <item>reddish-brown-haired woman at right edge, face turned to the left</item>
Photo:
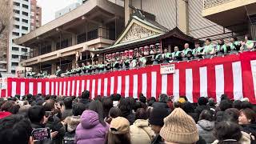
[[[249,108],[240,110],[238,124],[242,126],[242,131],[251,134],[256,138],[256,114]]]

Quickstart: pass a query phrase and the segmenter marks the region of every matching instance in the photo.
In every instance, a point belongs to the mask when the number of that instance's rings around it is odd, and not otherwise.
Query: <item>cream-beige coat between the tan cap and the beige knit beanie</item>
[[[153,138],[154,131],[151,130],[147,120],[137,119],[134,124],[130,126],[131,144],[149,144]]]

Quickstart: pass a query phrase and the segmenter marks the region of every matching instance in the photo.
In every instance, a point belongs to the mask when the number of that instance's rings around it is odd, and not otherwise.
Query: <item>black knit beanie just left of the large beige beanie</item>
[[[163,118],[166,118],[168,114],[169,112],[166,109],[153,108],[149,118],[150,125],[163,126]]]

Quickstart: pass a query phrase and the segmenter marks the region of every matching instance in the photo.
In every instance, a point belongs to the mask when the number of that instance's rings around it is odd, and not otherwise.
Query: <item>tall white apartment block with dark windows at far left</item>
[[[13,29],[9,34],[6,73],[15,74],[19,62],[27,58],[26,53],[30,51],[30,48],[16,45],[13,39],[22,37],[29,32],[30,0],[13,0]]]

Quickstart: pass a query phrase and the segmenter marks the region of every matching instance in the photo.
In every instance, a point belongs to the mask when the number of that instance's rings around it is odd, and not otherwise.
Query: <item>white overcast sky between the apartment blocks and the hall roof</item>
[[[38,5],[42,6],[42,25],[54,20],[55,12],[77,0],[38,0]]]

